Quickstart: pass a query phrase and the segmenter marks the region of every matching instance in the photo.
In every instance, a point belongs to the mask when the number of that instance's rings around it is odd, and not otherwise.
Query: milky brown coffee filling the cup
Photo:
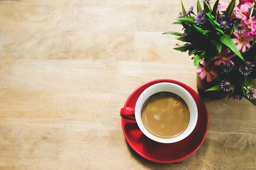
[[[188,126],[189,117],[186,102],[170,92],[151,95],[141,110],[141,119],[146,129],[162,139],[180,135]]]

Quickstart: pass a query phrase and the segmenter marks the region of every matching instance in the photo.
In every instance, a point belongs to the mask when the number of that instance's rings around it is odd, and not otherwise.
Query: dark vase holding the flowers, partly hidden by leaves
[[[208,99],[222,99],[224,97],[227,97],[227,95],[229,95],[229,92],[226,92],[226,91],[206,91],[207,89],[213,86],[216,86],[218,82],[215,79],[213,79],[212,82],[207,82],[206,78],[201,79],[199,75],[200,73],[197,73],[196,84],[198,88],[198,94],[200,96]]]

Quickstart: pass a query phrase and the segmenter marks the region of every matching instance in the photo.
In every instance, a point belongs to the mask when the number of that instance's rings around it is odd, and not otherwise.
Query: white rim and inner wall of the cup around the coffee
[[[180,96],[186,102],[189,108],[189,113],[190,113],[189,124],[187,128],[184,130],[184,132],[182,132],[180,135],[177,135],[176,137],[172,137],[169,139],[156,137],[155,135],[148,132],[148,130],[145,128],[144,124],[142,123],[141,109],[144,105],[144,102],[148,99],[148,97],[158,92],[171,92]],[[139,129],[148,138],[160,143],[170,144],[170,143],[181,141],[182,139],[185,139],[191,134],[191,132],[194,130],[197,124],[198,108],[196,106],[195,100],[193,99],[192,95],[188,91],[186,91],[186,89],[183,88],[182,86],[174,83],[169,83],[169,82],[157,83],[146,88],[137,99],[137,102],[135,105],[135,119],[139,126]]]

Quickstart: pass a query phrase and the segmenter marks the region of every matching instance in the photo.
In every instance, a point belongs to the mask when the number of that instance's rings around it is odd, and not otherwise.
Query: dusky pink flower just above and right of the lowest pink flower
[[[219,66],[221,63],[223,63],[223,64],[227,64],[227,63],[234,64],[234,62],[230,59],[235,57],[236,54],[227,56],[229,53],[230,53],[230,50],[228,48],[222,49],[220,53],[218,52],[218,55],[216,55],[214,57],[215,57],[215,59],[219,59],[219,60],[216,60],[214,65]]]

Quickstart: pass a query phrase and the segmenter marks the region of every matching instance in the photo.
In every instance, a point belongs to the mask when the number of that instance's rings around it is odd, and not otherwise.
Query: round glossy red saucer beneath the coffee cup
[[[195,103],[198,106],[198,123],[193,132],[182,141],[173,144],[162,144],[146,137],[137,126],[136,121],[121,118],[122,128],[126,141],[139,155],[158,163],[174,163],[193,155],[193,153],[195,153],[202,145],[208,130],[208,113],[204,102],[200,99],[198,93],[186,84],[171,79],[157,79],[139,86],[128,97],[124,106],[135,107],[137,99],[142,91],[149,86],[160,82],[178,84],[189,91],[195,99]]]

